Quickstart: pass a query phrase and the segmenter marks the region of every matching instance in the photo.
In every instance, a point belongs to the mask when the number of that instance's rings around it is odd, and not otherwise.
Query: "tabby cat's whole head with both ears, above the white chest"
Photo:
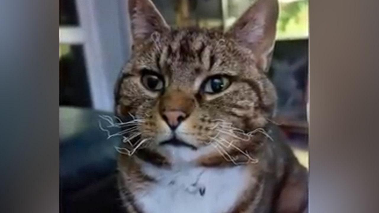
[[[157,146],[200,149],[238,140],[231,131],[264,127],[276,102],[265,70],[277,17],[275,7],[263,13],[265,5],[258,1],[222,33],[171,30],[150,1],[130,1],[133,54],[117,85],[116,113],[138,117],[141,138]]]

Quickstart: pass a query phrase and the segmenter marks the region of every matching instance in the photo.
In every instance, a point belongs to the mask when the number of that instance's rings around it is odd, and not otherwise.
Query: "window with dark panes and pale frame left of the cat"
[[[60,0],[60,105],[113,110],[129,56],[127,16],[127,0]]]

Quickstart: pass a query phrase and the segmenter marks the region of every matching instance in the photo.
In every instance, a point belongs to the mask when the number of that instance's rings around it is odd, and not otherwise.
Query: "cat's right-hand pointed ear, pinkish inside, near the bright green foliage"
[[[256,0],[226,33],[251,49],[258,59],[258,68],[264,71],[271,62],[278,11],[277,0]]]

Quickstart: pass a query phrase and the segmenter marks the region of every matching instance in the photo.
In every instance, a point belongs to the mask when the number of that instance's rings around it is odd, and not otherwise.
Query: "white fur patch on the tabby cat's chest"
[[[165,170],[145,164],[143,171],[157,180],[135,194],[136,203],[146,213],[227,212],[254,181],[244,166]]]

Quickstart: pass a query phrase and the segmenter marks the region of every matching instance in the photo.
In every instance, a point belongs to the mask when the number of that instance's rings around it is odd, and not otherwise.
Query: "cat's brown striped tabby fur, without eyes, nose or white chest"
[[[116,86],[116,114],[143,117],[139,126],[144,131],[141,138],[153,138],[167,129],[162,118],[166,110],[188,115],[181,124],[185,126],[183,134],[192,138],[186,142],[197,149],[210,146],[210,137],[217,133],[213,127],[220,119],[245,132],[267,129],[276,104],[274,86],[265,73],[274,45],[276,0],[258,0],[227,33],[198,28],[169,29],[149,0],[130,0],[129,10],[133,54]],[[144,69],[164,77],[164,90],[152,92],[144,88],[141,83]],[[203,92],[201,83],[215,74],[229,75],[232,84],[219,94]],[[237,163],[249,161],[239,150],[258,160],[246,164],[258,183],[246,189],[245,196],[230,213],[300,213],[306,208],[307,171],[287,145],[259,134],[234,144],[238,149],[233,146],[224,149]],[[120,189],[129,212],[141,212],[133,204],[133,191],[154,182],[141,172],[138,162],[168,168],[171,164],[169,158],[155,149],[157,146],[152,142],[132,157],[120,155]],[[216,149],[194,163],[205,167],[235,166]]]

